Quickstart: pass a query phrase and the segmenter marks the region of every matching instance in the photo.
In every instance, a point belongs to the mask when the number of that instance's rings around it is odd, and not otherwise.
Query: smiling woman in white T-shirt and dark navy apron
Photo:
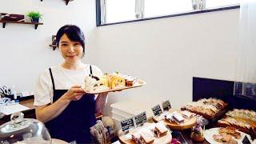
[[[102,71],[97,66],[82,63],[85,37],[78,26],[62,26],[56,42],[64,62],[39,76],[34,93],[36,116],[45,122],[52,138],[92,142],[90,127],[96,123],[95,113],[105,106],[107,93],[95,97],[86,94],[82,86],[87,75],[101,77]]]

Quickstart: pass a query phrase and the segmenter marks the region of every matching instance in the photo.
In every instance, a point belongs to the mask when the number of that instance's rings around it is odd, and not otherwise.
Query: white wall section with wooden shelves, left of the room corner
[[[6,24],[0,27],[0,85],[14,85],[19,90],[34,90],[38,74],[49,66],[62,62],[58,50],[50,50],[51,35],[65,24],[75,24],[86,33],[87,53],[93,53],[95,2],[75,0],[68,6],[62,0],[8,0],[0,2],[0,12],[27,14],[38,10],[44,25],[34,30],[32,25]],[[91,49],[90,49],[91,48]],[[93,62],[86,54],[85,62]]]

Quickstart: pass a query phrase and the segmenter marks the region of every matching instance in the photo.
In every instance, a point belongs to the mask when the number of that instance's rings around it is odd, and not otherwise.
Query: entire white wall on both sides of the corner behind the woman
[[[15,5],[14,5],[15,4]],[[6,24],[0,28],[0,85],[33,90],[38,74],[62,61],[49,50],[51,35],[67,23],[82,27],[88,40],[84,62],[105,72],[120,71],[147,85],[110,94],[110,103],[137,101],[153,106],[170,99],[174,107],[192,100],[192,77],[233,80],[238,57],[239,10],[193,14],[114,26],[95,26],[94,0],[9,0],[0,12],[39,10],[43,26]]]

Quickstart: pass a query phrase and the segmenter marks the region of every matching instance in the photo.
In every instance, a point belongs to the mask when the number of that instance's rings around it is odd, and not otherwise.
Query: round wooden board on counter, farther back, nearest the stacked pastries
[[[170,113],[174,112],[175,110],[169,110]],[[178,113],[181,113],[182,110],[176,110]],[[159,117],[154,117],[153,118],[155,122],[160,122],[162,121],[162,118]],[[166,124],[166,126],[169,126],[170,129],[172,130],[186,130],[186,129],[190,129],[192,128],[197,122],[197,118],[196,116],[190,118],[190,119],[186,119],[185,121],[181,124],[177,123],[177,122],[170,122],[168,120],[164,120],[164,123]]]

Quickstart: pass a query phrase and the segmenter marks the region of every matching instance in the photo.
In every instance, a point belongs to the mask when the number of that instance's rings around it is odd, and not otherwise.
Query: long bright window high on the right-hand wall
[[[239,6],[241,0],[195,0],[206,2],[203,10]],[[138,21],[172,14],[193,13],[192,0],[97,0],[97,26]],[[234,8],[237,8],[234,7]],[[198,13],[198,10],[196,10]],[[200,10],[199,10],[200,11]]]

